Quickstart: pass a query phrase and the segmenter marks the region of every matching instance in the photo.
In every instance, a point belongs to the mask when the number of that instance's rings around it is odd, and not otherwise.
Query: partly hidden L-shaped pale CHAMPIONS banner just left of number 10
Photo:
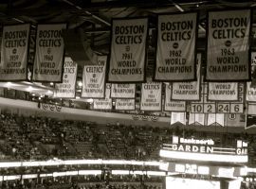
[[[171,93],[172,93],[172,85],[169,83],[166,83],[165,84],[164,111],[186,112],[186,102],[171,100]]]

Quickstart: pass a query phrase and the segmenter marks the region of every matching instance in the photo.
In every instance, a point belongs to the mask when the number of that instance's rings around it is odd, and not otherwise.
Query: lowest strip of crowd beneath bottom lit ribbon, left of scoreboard
[[[2,189],[162,189],[159,178],[101,180],[100,177],[58,177],[45,180],[11,180],[0,182]]]

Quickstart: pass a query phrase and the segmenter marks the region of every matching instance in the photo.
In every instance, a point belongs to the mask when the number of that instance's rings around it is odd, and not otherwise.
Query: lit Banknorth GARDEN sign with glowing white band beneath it
[[[202,162],[247,163],[247,143],[237,141],[234,147],[214,146],[211,139],[173,137],[173,144],[164,144],[160,156]]]

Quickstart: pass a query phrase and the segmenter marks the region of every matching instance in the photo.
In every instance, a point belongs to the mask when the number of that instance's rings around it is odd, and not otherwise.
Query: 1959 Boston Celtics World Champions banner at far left
[[[30,25],[4,26],[1,45],[1,81],[27,80]]]

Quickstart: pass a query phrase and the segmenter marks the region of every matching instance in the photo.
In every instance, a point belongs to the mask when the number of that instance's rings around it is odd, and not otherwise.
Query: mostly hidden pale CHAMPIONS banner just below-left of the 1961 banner
[[[112,98],[110,98],[111,84],[106,83],[105,98],[94,99],[93,109],[95,110],[112,110]]]

